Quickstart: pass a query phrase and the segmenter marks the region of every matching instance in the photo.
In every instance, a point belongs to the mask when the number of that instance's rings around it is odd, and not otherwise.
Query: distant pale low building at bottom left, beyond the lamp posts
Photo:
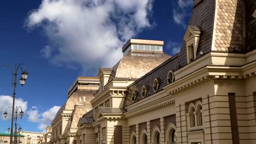
[[[24,144],[40,144],[44,142],[44,133],[21,131],[20,134],[24,135]]]

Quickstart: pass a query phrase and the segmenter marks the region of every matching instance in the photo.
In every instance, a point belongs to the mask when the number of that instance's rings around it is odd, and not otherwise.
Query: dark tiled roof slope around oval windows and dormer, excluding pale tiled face
[[[211,52],[215,11],[214,5],[215,1],[202,1],[202,3],[197,5],[197,7],[193,10],[191,15],[189,25],[196,26],[201,31],[199,46],[197,48],[197,55],[200,51],[203,52],[203,55]],[[150,95],[155,93],[153,91],[153,81],[155,78],[160,80],[160,86],[157,91],[159,92],[161,91],[162,87],[167,85],[168,71],[176,71],[185,65],[187,65],[187,47],[185,41],[183,41],[181,52],[177,53],[177,55],[162,63],[148,74],[142,76],[128,87],[128,91],[126,92],[126,99],[124,101],[124,107],[132,104],[131,95],[133,91],[137,92],[137,99],[135,103],[142,99],[141,89],[143,85],[148,86],[146,97],[150,97]]]

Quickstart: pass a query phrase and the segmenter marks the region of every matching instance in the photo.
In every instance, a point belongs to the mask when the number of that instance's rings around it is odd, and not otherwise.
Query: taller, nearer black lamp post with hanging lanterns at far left
[[[24,66],[24,70],[22,70],[21,68],[21,65]],[[10,133],[10,144],[11,142],[13,141],[13,120],[14,120],[14,108],[15,108],[15,89],[16,89],[16,85],[17,85],[17,75],[18,75],[18,70],[20,69],[21,70],[21,79],[20,79],[20,85],[23,86],[25,85],[25,82],[26,82],[26,79],[27,79],[27,76],[28,76],[28,73],[26,71],[26,66],[25,64],[19,64],[18,66],[15,64],[15,67],[12,68],[10,65],[7,65],[7,64],[3,64],[3,65],[0,65],[0,67],[9,67],[11,70],[12,70],[12,76],[13,76],[13,79],[12,79],[12,86],[14,86],[13,88],[13,111],[11,112],[11,133]]]

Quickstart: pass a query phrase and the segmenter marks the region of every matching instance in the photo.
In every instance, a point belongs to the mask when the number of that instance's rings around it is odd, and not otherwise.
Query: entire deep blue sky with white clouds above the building
[[[164,51],[181,47],[191,0],[43,0],[0,4],[0,64],[25,63],[29,73],[16,98],[25,116],[22,130],[43,131],[67,99],[77,76],[112,67],[130,38],[164,40]],[[19,73],[18,79],[21,77]],[[0,68],[0,112],[11,105],[11,70]],[[9,113],[10,116],[11,113]],[[10,118],[0,117],[0,131]]]

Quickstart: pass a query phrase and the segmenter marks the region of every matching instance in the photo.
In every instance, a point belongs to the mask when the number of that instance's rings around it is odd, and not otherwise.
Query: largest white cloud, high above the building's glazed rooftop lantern
[[[40,52],[57,65],[78,65],[84,72],[112,67],[121,47],[145,28],[153,0],[43,0],[26,26],[40,27],[49,44]]]

